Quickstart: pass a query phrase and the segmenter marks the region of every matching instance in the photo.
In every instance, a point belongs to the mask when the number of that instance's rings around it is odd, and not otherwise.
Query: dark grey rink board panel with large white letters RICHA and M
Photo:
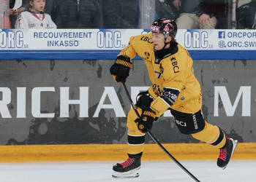
[[[113,60],[1,60],[0,145],[124,144],[129,100],[113,82]],[[127,88],[146,90],[135,60]],[[205,119],[240,143],[256,142],[256,61],[195,60]],[[151,130],[162,143],[198,143],[178,131],[167,111]],[[146,137],[146,143],[154,143]]]

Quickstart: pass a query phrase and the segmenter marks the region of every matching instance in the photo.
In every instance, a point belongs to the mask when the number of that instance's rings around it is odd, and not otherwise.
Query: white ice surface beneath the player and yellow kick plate
[[[256,160],[231,160],[225,170],[216,161],[180,161],[200,181],[256,181]],[[194,181],[172,161],[142,161],[139,178],[112,178],[116,162],[0,163],[1,182],[189,182]]]

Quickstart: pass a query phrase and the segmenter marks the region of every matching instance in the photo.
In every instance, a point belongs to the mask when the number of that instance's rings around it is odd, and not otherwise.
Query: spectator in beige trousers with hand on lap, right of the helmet
[[[176,20],[180,29],[214,29],[226,28],[226,6],[223,0],[174,0],[176,7],[182,7],[184,12]]]

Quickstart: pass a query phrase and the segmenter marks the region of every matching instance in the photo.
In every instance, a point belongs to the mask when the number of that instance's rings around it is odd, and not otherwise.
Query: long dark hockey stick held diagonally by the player
[[[123,86],[124,86],[125,92],[127,93],[127,97],[128,97],[128,99],[129,99],[129,103],[132,105],[132,108],[135,110],[135,113],[137,114],[137,116],[140,117],[140,114],[138,113],[137,109],[135,108],[135,105],[134,105],[134,103],[132,102],[132,98],[131,98],[131,96],[129,95],[129,92],[128,92],[128,90],[127,90],[126,84],[125,84],[124,82],[122,82],[122,84],[123,84]],[[200,182],[197,178],[195,178],[195,175],[192,175],[192,173],[190,173],[189,170],[187,170],[183,165],[181,165],[181,163],[178,162],[178,160],[175,159],[175,158],[165,149],[165,147],[162,146],[161,143],[159,143],[159,141],[157,141],[157,138],[155,138],[154,135],[152,135],[152,133],[151,133],[150,130],[148,130],[147,133],[148,133],[148,135],[152,138],[152,140],[153,140],[155,143],[157,143],[157,145],[158,145],[163,151],[165,151],[165,154],[167,154],[167,155],[170,157],[170,159],[173,159],[173,161],[176,162],[176,164],[177,164],[179,167],[181,167],[181,169],[184,170],[191,178],[193,178],[193,179],[194,179],[195,181],[197,181],[197,182]]]

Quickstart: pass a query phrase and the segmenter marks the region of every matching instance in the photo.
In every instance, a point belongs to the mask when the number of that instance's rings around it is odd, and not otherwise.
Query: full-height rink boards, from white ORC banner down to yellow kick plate
[[[144,31],[0,30],[0,161],[124,159],[130,106],[109,68],[129,36]],[[47,32],[82,36],[39,37]],[[237,159],[256,158],[255,37],[248,30],[181,30],[176,37],[195,60],[203,114],[239,141]],[[51,41],[79,47],[49,47]],[[149,86],[145,64],[136,57],[127,81],[132,100]],[[178,159],[217,158],[217,149],[182,135],[170,112],[152,133]],[[168,159],[148,136],[146,143],[144,159]]]

